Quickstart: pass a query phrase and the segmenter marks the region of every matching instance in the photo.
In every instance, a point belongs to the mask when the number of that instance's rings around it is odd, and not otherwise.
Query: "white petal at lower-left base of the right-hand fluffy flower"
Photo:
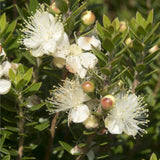
[[[105,127],[112,134],[121,134],[123,131],[124,125],[123,125],[123,123],[121,123],[115,119],[110,119],[109,117],[107,117],[105,119]]]

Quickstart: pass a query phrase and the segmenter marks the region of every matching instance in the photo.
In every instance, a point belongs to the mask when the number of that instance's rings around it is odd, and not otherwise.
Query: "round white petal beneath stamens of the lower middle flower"
[[[69,117],[74,123],[81,123],[84,122],[89,117],[89,115],[90,111],[88,106],[81,104],[71,110]]]

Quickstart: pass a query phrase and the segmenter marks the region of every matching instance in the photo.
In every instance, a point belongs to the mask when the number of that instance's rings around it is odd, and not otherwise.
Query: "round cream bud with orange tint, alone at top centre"
[[[84,25],[87,25],[87,26],[89,26],[91,24],[94,24],[95,19],[96,19],[96,17],[94,15],[94,13],[91,12],[91,11],[85,11],[81,15],[81,21],[82,21],[82,23]]]

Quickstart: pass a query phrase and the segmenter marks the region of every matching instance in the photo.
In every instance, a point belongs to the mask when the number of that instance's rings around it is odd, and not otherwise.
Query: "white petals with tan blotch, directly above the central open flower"
[[[101,49],[101,42],[100,40],[96,39],[94,36],[92,37],[80,37],[77,40],[77,44],[84,50],[92,50],[92,46],[96,47],[97,49]]]

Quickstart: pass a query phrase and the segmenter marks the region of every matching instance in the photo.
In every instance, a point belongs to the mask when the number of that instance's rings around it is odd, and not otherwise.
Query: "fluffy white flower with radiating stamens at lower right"
[[[125,132],[135,136],[137,133],[145,133],[139,125],[148,123],[146,120],[148,110],[144,108],[143,99],[135,94],[119,93],[116,103],[105,119],[105,127],[112,134]]]

